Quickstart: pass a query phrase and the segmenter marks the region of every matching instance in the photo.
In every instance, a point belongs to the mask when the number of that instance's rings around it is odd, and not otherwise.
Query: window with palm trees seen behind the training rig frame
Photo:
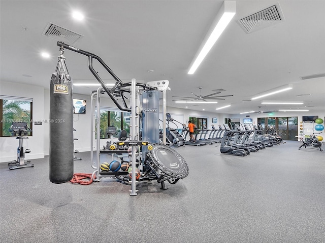
[[[114,126],[116,128],[117,134],[113,135],[113,138],[118,137],[118,133],[121,130],[126,130],[127,136],[130,132],[130,113],[121,112],[120,110],[115,110],[111,108],[101,107],[101,138],[108,138],[106,133],[108,126]]]

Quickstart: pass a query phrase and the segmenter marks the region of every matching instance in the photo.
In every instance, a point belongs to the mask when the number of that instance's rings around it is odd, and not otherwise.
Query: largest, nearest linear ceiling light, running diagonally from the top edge
[[[236,14],[236,2],[224,1],[216,18],[214,19],[208,33],[206,34],[201,47],[199,48],[194,61],[192,61],[188,74],[193,74],[200,66],[203,59],[209,53],[223,30],[230,23]]]

